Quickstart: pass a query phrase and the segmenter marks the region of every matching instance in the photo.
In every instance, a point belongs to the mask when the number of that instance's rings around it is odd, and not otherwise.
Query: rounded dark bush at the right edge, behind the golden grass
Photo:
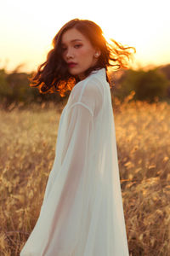
[[[162,100],[167,97],[170,82],[166,76],[156,69],[144,71],[126,71],[119,81],[120,89],[116,90],[116,96],[124,99],[132,90],[135,91],[134,100],[155,102],[157,98]]]

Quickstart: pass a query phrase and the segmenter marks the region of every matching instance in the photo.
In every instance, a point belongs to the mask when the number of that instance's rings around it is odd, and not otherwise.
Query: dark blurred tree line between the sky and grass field
[[[30,87],[28,78],[31,75],[32,73],[20,73],[17,69],[11,73],[7,73],[5,68],[0,69],[0,105],[8,108],[13,102],[26,106],[31,102],[53,101],[57,104],[66,101],[70,92],[62,98],[58,92],[44,95],[37,88]],[[133,91],[133,100],[170,102],[170,64],[148,71],[140,68],[118,70],[111,72],[109,78],[113,85],[111,94],[121,101]]]

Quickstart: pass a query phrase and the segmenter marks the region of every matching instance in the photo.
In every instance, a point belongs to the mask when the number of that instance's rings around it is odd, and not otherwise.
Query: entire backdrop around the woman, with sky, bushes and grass
[[[28,78],[60,27],[80,18],[136,49],[128,69],[109,73],[129,255],[169,256],[169,0],[6,0],[0,7],[0,255],[20,255],[37,222],[69,96],[40,94]]]

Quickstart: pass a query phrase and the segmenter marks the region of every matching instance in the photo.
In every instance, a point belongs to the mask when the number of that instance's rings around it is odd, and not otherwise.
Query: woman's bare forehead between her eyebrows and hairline
[[[88,41],[88,39],[76,28],[71,28],[64,32],[61,38],[61,44],[69,44],[77,41]]]

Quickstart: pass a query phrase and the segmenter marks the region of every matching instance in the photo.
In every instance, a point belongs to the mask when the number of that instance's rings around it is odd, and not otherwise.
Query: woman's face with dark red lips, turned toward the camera
[[[84,79],[84,72],[97,63],[100,55],[99,49],[94,49],[88,38],[76,28],[63,33],[61,45],[62,56],[68,65],[69,73],[78,76],[81,80]]]

